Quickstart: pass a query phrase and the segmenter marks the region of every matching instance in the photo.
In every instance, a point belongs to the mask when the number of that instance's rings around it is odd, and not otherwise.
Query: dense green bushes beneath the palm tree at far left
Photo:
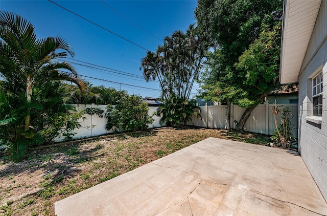
[[[0,150],[14,161],[27,157],[30,148],[42,145],[55,137],[69,140],[83,111],[77,112],[65,104],[62,83],[44,82],[33,89],[32,101],[26,102],[23,94],[0,90]],[[31,126],[25,130],[25,118],[30,116]]]

